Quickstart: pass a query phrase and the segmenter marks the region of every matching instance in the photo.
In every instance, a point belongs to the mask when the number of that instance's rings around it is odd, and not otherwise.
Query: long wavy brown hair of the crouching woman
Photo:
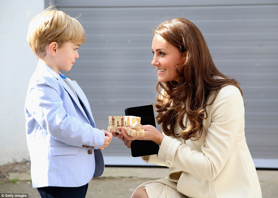
[[[165,135],[198,140],[206,135],[203,126],[203,120],[207,118],[206,107],[214,102],[219,90],[226,85],[238,87],[241,94],[242,90],[235,79],[216,68],[201,31],[191,21],[184,18],[166,21],[154,30],[154,34],[162,36],[181,53],[186,52],[182,71],[175,68],[181,79],[157,83],[157,103],[154,104],[157,124],[162,125]],[[213,98],[208,104],[210,94]],[[181,128],[179,134],[174,132],[177,121]]]

